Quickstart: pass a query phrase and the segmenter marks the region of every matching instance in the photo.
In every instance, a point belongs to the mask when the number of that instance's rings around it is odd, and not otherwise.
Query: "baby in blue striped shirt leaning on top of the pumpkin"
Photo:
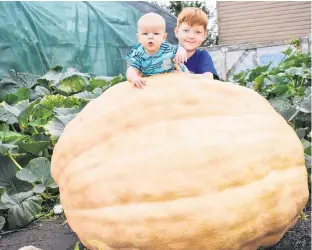
[[[166,38],[166,21],[162,16],[147,13],[139,19],[139,44],[126,56],[129,64],[126,77],[134,87],[143,88],[146,85],[142,76],[167,73],[174,69],[187,71],[183,65],[187,60],[186,50],[167,43]]]

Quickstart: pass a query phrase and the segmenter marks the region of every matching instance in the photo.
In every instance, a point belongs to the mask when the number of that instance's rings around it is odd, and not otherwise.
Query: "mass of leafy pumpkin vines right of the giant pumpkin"
[[[305,162],[311,182],[311,54],[303,53],[294,39],[276,66],[239,72],[233,80],[263,95],[293,127],[304,147]]]

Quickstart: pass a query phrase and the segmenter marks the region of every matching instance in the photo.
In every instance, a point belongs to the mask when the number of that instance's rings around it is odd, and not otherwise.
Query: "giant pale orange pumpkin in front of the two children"
[[[270,246],[309,195],[301,142],[264,97],[182,73],[91,101],[66,126],[51,171],[90,249]]]

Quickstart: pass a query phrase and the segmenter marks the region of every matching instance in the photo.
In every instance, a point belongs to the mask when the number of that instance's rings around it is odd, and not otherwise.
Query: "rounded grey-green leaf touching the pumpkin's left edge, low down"
[[[31,160],[25,168],[17,172],[16,177],[23,181],[43,184],[44,187],[57,187],[51,176],[51,164],[45,157]]]

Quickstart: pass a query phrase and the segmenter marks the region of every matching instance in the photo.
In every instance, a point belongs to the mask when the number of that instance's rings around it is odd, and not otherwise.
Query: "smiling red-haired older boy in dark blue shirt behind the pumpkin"
[[[178,16],[176,37],[180,46],[185,48],[187,61],[185,66],[191,73],[204,74],[211,79],[219,79],[211,56],[206,50],[199,50],[207,37],[208,17],[199,8],[184,8]]]

